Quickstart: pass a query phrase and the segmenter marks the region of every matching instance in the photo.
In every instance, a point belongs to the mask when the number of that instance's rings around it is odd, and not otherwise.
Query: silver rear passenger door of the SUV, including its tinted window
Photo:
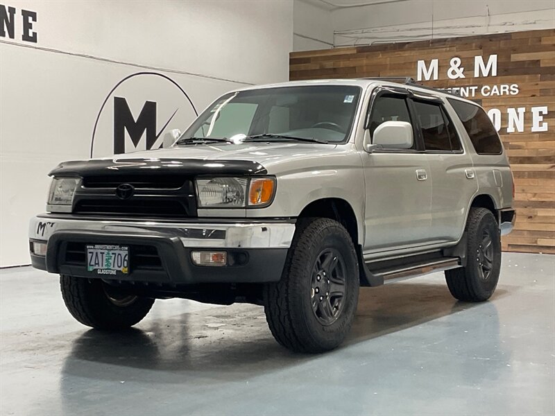
[[[478,189],[472,158],[441,98],[415,94],[411,101],[432,182],[429,235],[438,243],[458,241],[466,209]]]

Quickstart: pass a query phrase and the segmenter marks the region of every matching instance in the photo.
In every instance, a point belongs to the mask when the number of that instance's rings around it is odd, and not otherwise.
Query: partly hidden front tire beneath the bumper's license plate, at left
[[[154,303],[148,297],[122,293],[100,279],[60,275],[67,310],[87,327],[124,329],[141,321]]]

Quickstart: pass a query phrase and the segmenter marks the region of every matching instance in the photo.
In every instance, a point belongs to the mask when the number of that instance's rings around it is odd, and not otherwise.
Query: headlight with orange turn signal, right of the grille
[[[275,193],[274,177],[212,177],[196,180],[198,207],[265,207]]]

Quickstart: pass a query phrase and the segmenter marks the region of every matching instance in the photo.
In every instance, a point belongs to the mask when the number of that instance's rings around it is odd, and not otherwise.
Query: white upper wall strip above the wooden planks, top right
[[[338,47],[553,28],[555,1],[295,0],[294,15],[295,33]],[[329,47],[293,43],[295,51]]]

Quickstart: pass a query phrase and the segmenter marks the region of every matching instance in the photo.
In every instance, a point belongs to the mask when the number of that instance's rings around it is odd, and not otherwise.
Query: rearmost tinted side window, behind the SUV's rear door
[[[499,136],[488,114],[478,105],[447,98],[461,119],[472,146],[479,155],[500,155],[503,151]]]

